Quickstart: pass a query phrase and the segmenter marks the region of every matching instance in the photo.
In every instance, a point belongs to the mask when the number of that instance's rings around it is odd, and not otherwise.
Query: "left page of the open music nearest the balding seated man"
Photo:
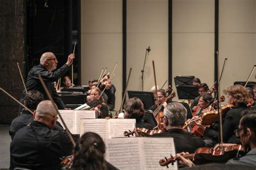
[[[74,111],[73,110],[59,110],[59,113],[62,115],[62,118],[66,124],[66,126],[69,128],[69,131],[71,133],[75,132],[75,117],[74,117]],[[64,127],[62,120],[58,119],[59,123]]]

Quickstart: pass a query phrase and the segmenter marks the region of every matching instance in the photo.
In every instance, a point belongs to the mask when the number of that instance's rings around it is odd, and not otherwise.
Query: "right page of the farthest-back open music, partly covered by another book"
[[[80,133],[80,119],[95,119],[95,111],[87,110],[74,110],[75,112],[75,130],[74,134]]]

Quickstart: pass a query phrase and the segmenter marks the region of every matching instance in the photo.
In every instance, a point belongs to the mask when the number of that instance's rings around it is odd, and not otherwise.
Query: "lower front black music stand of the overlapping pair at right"
[[[178,86],[176,88],[179,99],[194,99],[199,96],[198,86]]]

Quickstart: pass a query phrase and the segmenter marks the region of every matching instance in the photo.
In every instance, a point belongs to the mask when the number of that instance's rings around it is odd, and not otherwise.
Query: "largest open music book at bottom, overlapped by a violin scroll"
[[[118,169],[167,169],[159,165],[164,157],[176,155],[173,138],[106,139],[106,160]],[[169,169],[178,169],[177,162]]]

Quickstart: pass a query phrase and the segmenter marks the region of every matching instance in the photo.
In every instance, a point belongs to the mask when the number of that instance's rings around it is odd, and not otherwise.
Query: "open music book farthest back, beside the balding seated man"
[[[91,110],[59,110],[59,113],[62,115],[66,126],[68,126],[69,131],[72,134],[80,133],[80,119],[97,118],[97,114],[95,113],[95,111]],[[58,121],[63,126],[62,121],[60,119]]]

